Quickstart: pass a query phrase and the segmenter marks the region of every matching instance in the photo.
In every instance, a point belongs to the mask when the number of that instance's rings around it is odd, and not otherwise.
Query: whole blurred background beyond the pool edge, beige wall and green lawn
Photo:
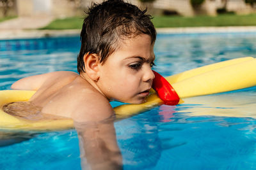
[[[102,0],[0,0],[3,29],[81,29],[84,10]],[[256,0],[128,0],[156,27],[256,25]],[[0,32],[1,33],[1,32]]]

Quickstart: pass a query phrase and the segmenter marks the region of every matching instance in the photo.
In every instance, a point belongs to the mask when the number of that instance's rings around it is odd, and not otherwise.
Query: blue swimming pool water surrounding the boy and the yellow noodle
[[[24,76],[76,71],[78,52],[78,37],[1,40],[0,89],[10,89]],[[256,57],[256,32],[159,34],[155,53],[154,69],[168,76],[222,60]],[[115,122],[124,169],[256,168],[255,87],[184,101]],[[74,129],[0,134],[1,169],[81,169]]]

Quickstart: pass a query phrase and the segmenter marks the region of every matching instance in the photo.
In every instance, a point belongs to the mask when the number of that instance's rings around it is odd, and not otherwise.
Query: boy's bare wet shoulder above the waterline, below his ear
[[[79,96],[76,98],[76,108],[71,116],[75,122],[97,122],[114,114],[108,99],[99,92],[82,90]]]

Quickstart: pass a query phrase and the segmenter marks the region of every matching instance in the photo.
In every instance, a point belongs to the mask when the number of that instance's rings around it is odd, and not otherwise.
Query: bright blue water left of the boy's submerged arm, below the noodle
[[[21,138],[22,134],[28,138],[0,147],[0,169],[81,169],[77,133],[74,130],[10,134],[13,135],[9,135],[9,139]]]

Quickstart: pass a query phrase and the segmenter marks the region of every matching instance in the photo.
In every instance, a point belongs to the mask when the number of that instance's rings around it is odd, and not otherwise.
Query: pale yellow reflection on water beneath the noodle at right
[[[214,94],[184,99],[189,116],[251,117],[256,118],[256,88],[241,92]],[[179,111],[177,111],[179,113]]]

